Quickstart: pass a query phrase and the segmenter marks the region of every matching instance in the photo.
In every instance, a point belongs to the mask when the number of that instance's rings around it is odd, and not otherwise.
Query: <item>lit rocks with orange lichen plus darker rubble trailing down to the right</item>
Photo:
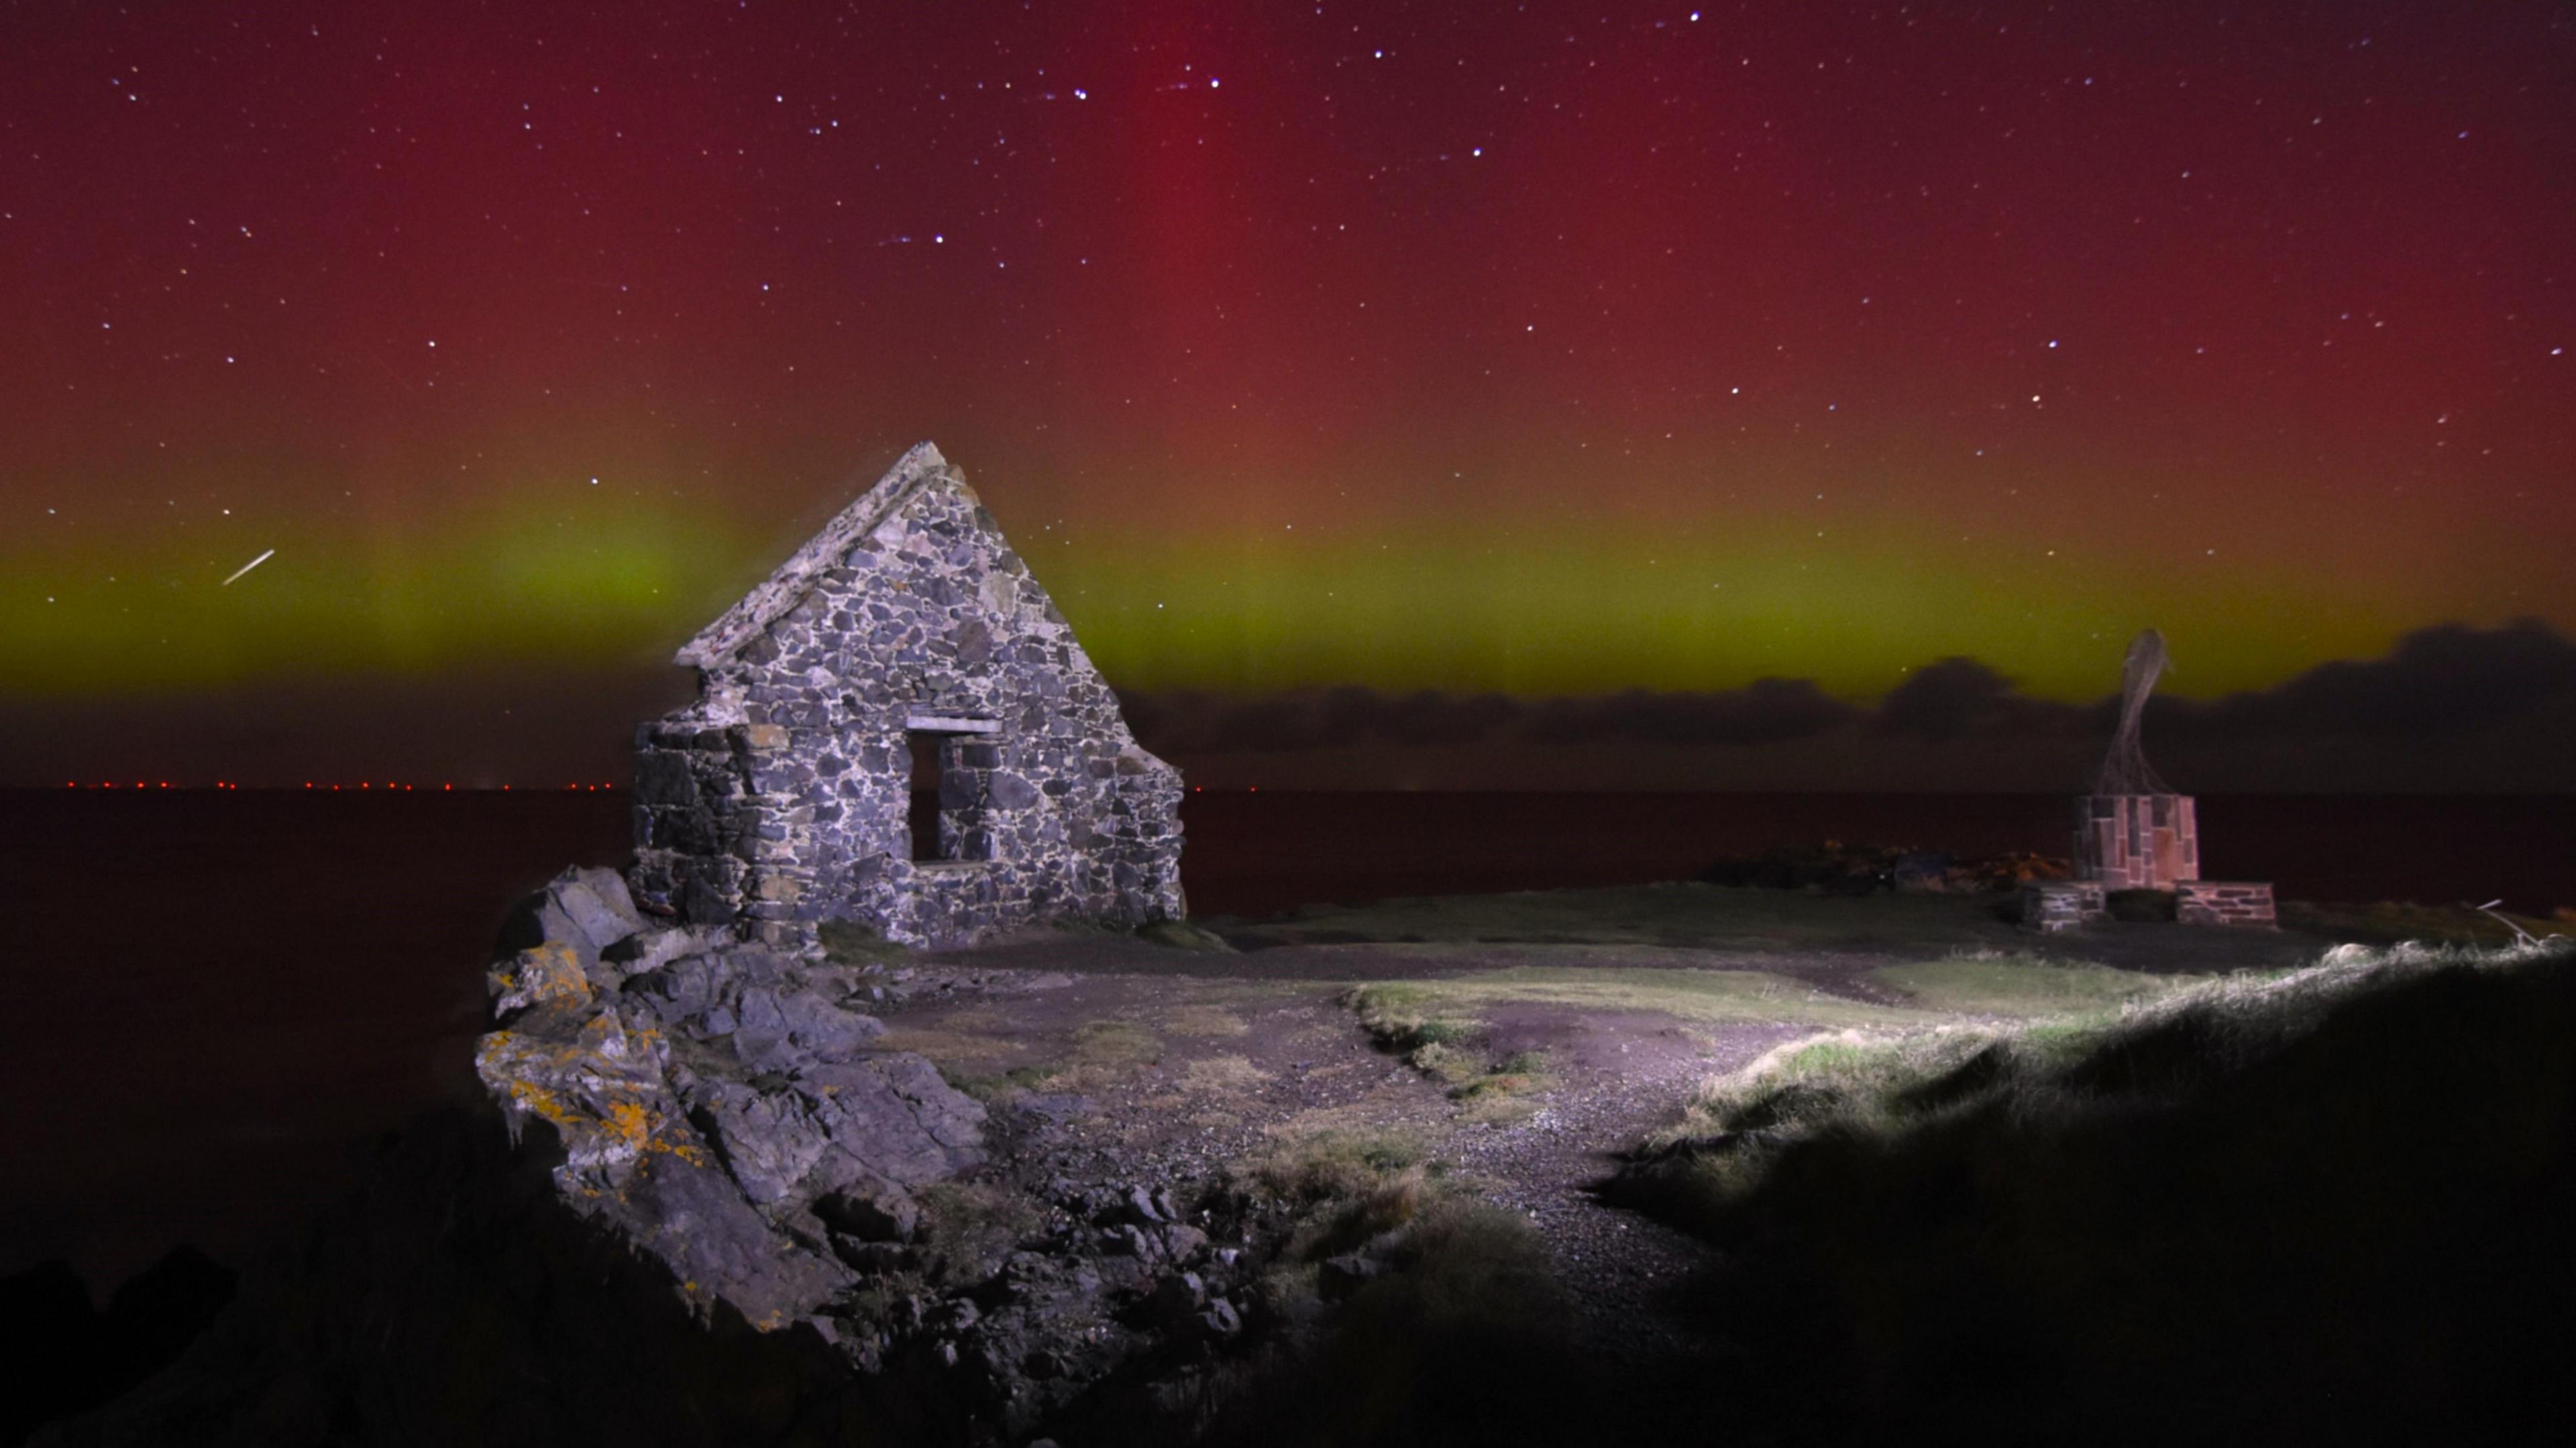
[[[914,969],[644,925],[605,871],[567,871],[505,938],[477,1069],[520,1162],[708,1327],[793,1327],[871,1402],[927,1394],[1005,1440],[1167,1412],[1255,1332],[1239,1203],[1103,1180],[1123,1167],[1056,1141],[1043,1100],[987,1121],[881,1049],[860,1005],[917,989]]]

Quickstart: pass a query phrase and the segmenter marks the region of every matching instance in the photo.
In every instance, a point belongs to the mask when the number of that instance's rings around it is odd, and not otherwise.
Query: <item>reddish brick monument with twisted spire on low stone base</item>
[[[2138,721],[2146,696],[2164,672],[2164,634],[2146,629],[2128,644],[2120,670],[2120,727],[2094,776],[2092,794],[2076,796],[2074,876],[2025,889],[2022,920],[2038,930],[2069,930],[2110,920],[2115,889],[2174,894],[2174,917],[2187,925],[2272,925],[2272,886],[2200,879],[2200,812],[2187,794],[2146,763]]]

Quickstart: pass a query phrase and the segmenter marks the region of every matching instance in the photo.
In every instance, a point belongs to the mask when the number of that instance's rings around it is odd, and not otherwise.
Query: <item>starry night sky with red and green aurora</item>
[[[1136,696],[2545,642],[2571,178],[2540,0],[0,5],[0,691],[616,757],[920,438]]]

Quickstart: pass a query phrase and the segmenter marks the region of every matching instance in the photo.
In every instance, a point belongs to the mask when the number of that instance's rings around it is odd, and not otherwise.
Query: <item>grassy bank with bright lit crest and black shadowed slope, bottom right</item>
[[[1721,1247],[1754,1438],[2563,1433],[2576,948],[1808,1038],[1610,1190]]]

